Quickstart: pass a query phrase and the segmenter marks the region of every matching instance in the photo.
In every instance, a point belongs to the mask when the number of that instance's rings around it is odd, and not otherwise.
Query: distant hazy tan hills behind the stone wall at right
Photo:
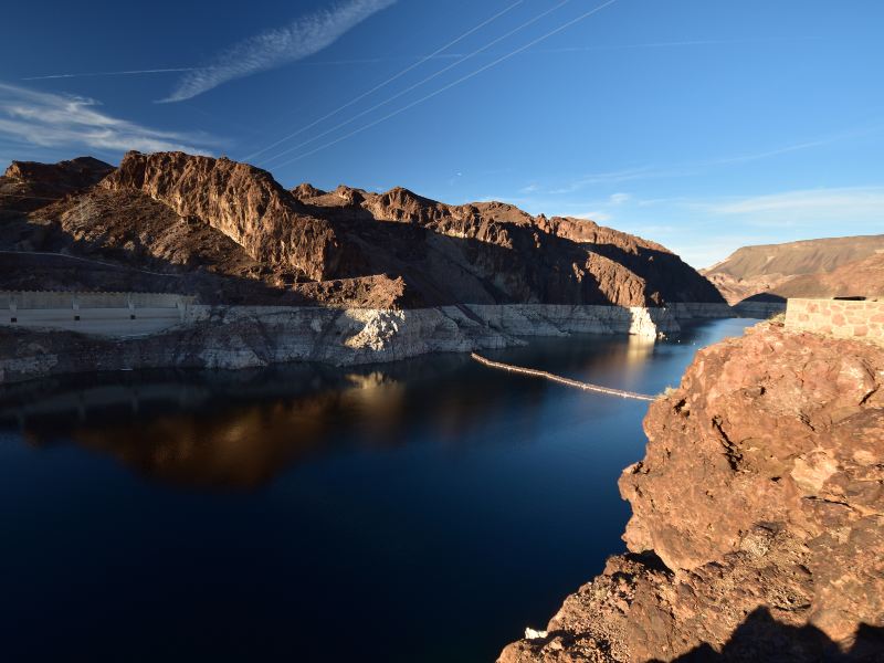
[[[743,246],[701,270],[730,304],[884,295],[884,234]]]

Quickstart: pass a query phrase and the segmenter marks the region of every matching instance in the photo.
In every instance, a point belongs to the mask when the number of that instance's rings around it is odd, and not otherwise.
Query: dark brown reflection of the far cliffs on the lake
[[[585,343],[599,346],[588,356]],[[583,337],[507,350],[533,366],[579,366],[573,377],[628,380],[653,343]],[[35,446],[72,441],[164,483],[253,490],[298,463],[357,444],[398,446],[430,429],[456,448],[487,417],[549,388],[461,355],[335,370],[292,365],[246,371],[145,371],[38,380],[0,391],[0,422]],[[587,400],[591,418],[603,401]],[[530,430],[524,431],[527,435]],[[481,436],[481,435],[480,435]]]

